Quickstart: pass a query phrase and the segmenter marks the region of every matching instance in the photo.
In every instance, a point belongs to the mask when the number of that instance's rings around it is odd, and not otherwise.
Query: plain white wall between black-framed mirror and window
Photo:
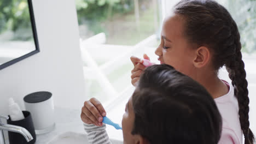
[[[8,98],[24,110],[25,95],[53,93],[55,106],[80,109],[85,100],[82,58],[74,1],[33,0],[40,52],[0,70],[0,115]]]

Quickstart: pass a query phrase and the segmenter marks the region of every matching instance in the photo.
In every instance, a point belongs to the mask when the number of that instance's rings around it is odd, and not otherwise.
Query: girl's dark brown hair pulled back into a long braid
[[[184,18],[184,35],[190,43],[207,46],[213,52],[213,66],[226,66],[239,105],[241,129],[245,143],[253,143],[249,129],[249,98],[245,64],[242,61],[240,34],[228,10],[212,0],[182,0],[174,14]]]

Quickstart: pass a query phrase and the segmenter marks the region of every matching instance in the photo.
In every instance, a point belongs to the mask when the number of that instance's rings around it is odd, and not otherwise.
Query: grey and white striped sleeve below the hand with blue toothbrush
[[[84,123],[84,130],[88,133],[90,144],[112,144],[108,138],[106,124],[103,123],[101,127],[98,127],[94,124]]]

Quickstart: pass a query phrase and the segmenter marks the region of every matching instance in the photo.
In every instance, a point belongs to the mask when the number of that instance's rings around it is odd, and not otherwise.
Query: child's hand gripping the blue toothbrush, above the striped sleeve
[[[106,116],[106,111],[96,98],[84,102],[80,116],[84,123],[102,126],[104,116]]]

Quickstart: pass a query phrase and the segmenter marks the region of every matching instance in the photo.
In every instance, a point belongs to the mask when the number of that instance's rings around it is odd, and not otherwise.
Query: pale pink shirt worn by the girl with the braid
[[[234,87],[231,83],[224,81],[229,85],[229,92],[222,97],[214,99],[222,115],[222,136],[218,144],[242,143],[242,130],[238,115],[238,101],[234,95]]]

